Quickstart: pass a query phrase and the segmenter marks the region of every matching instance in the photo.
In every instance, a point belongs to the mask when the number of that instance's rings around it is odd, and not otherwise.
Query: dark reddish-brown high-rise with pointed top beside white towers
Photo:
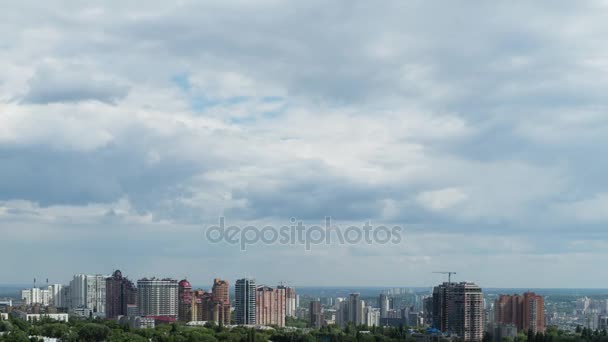
[[[120,270],[106,278],[106,318],[128,316],[128,306],[137,304],[137,289]]]

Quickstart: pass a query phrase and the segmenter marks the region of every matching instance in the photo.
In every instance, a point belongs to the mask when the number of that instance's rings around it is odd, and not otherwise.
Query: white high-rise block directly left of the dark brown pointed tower
[[[76,274],[70,281],[70,308],[105,315],[107,275]]]

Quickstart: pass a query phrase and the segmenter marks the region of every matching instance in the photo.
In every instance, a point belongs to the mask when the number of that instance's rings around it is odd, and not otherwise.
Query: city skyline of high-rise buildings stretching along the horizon
[[[452,281],[456,272],[435,273],[447,274],[448,281],[427,289],[384,288],[375,294],[378,289],[366,288],[348,295],[342,295],[346,289],[268,286],[254,278],[215,278],[203,289],[187,279],[134,281],[120,270],[76,274],[67,284],[35,285],[21,289],[18,297],[1,298],[0,319],[34,325],[115,322],[141,331],[177,324],[193,329],[316,331],[316,338],[330,327],[368,334],[394,328],[403,329],[403,339],[411,341],[523,342],[548,331],[575,338],[583,336],[583,329],[607,335],[608,292],[588,290],[589,296],[582,297],[569,290],[541,290],[548,291],[546,295],[500,289],[484,293],[474,282]]]

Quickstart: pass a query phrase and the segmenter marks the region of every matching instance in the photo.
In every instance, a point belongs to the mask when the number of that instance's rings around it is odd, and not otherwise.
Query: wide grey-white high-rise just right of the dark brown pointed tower
[[[174,279],[143,278],[137,281],[141,316],[178,316],[178,283]]]

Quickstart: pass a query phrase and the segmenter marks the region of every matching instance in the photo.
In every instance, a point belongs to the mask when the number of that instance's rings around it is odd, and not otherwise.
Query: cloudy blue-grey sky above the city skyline
[[[607,1],[7,1],[0,283],[608,287]],[[206,240],[291,218],[398,244]]]

